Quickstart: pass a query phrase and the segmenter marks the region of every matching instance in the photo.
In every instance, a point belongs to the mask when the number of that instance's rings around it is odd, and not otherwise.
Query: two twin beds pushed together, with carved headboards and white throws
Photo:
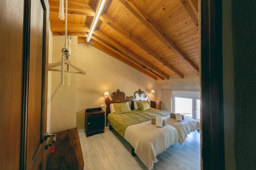
[[[126,97],[119,89],[110,98],[105,99],[106,103],[106,125],[109,123],[110,130],[115,129],[124,139],[132,145],[132,155],[137,155],[148,169],[152,169],[157,162],[156,156],[164,152],[175,142],[185,143],[187,135],[199,129],[199,122],[189,117],[184,117],[182,122],[170,118],[170,113],[150,108],[145,111],[135,109],[136,101],[147,101],[148,97],[143,91],[135,92],[133,96]],[[110,105],[131,101],[131,112],[116,114],[111,113]],[[166,125],[157,128],[151,124],[152,117],[163,117]]]

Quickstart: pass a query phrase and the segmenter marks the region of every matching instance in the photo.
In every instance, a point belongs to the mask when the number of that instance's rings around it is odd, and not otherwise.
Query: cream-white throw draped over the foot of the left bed
[[[136,155],[148,169],[152,169],[158,161],[158,154],[175,142],[182,142],[174,127],[165,125],[163,128],[157,128],[151,121],[127,127],[124,138],[132,145]]]

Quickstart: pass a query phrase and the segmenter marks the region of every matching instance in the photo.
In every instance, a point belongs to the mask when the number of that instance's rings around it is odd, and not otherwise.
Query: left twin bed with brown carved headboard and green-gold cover
[[[181,142],[179,132],[169,125],[157,128],[151,124],[151,117],[140,114],[137,110],[123,114],[111,113],[110,104],[129,101],[130,98],[125,98],[125,94],[120,90],[113,92],[112,100],[106,98],[106,121],[110,130],[115,129],[132,145],[132,155],[137,155],[148,169],[152,169],[158,161],[158,154],[175,142]]]

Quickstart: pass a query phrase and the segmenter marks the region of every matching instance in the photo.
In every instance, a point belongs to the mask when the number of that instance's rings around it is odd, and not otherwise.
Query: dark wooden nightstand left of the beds
[[[101,108],[86,109],[86,136],[103,133],[105,128],[105,111]]]

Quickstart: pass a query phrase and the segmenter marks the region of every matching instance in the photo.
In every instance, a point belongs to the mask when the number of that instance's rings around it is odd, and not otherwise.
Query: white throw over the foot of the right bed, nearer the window
[[[173,126],[179,132],[181,144],[185,143],[187,135],[195,130],[200,129],[200,123],[197,120],[184,116],[182,122],[177,122],[175,118],[164,117],[165,123]]]

